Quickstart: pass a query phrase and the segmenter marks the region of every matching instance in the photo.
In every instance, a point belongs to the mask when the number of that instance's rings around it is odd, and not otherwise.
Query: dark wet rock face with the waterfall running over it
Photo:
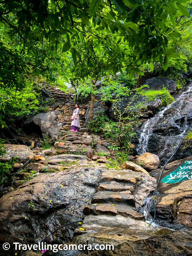
[[[192,124],[192,85],[183,88],[175,101],[136,129],[138,154],[145,152],[159,156],[165,163],[173,155]],[[181,144],[172,161],[192,155],[192,147]]]

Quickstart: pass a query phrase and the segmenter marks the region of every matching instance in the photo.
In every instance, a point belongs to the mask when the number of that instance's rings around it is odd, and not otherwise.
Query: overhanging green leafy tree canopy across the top
[[[186,0],[3,0],[0,1],[0,82],[25,86],[26,75],[54,81],[115,75],[130,77],[159,60],[164,69],[175,48],[169,39],[179,17],[189,16]],[[69,56],[73,63],[69,66]]]

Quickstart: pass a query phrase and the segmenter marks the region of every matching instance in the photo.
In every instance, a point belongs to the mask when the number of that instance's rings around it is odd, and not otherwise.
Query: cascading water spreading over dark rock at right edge
[[[168,158],[175,151],[175,148],[179,145],[182,140],[186,130],[188,128],[188,118],[192,112],[192,84],[183,88],[177,95],[174,102],[166,106],[162,111],[157,113],[154,117],[149,118],[142,126],[138,132],[138,145],[136,150],[138,154],[143,154],[145,152],[150,152],[149,144],[150,138],[154,136],[154,131],[156,131],[156,138],[153,139],[153,144],[157,143],[158,139],[164,137],[164,143],[161,145],[157,154],[160,159]],[[173,113],[172,113],[173,112]],[[188,116],[188,117],[187,117]],[[181,124],[181,119],[183,119]],[[176,134],[172,132],[169,128],[164,128],[163,126],[173,120],[174,129],[177,130]],[[160,124],[157,127],[157,124]],[[163,128],[162,128],[163,127]],[[161,131],[162,129],[162,131]],[[164,129],[164,130],[163,130]],[[169,131],[170,130],[170,131]],[[139,134],[140,133],[140,134]],[[166,137],[166,140],[165,140]]]

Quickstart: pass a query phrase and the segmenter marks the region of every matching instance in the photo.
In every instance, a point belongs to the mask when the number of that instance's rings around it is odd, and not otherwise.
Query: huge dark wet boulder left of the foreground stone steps
[[[0,243],[9,242],[11,247],[13,242],[34,243],[59,226],[82,219],[83,205],[95,193],[101,170],[74,168],[39,174],[0,198]],[[28,205],[31,201],[34,207]],[[77,225],[55,233],[55,243],[71,241]]]

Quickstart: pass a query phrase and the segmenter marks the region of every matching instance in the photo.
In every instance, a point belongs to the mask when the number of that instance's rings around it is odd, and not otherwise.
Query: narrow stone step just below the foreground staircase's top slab
[[[130,191],[130,193],[132,193],[134,188],[135,186],[129,186],[127,185],[127,183],[124,183],[124,184],[101,183],[97,190],[98,191],[107,190],[107,191],[114,191],[114,192]]]

